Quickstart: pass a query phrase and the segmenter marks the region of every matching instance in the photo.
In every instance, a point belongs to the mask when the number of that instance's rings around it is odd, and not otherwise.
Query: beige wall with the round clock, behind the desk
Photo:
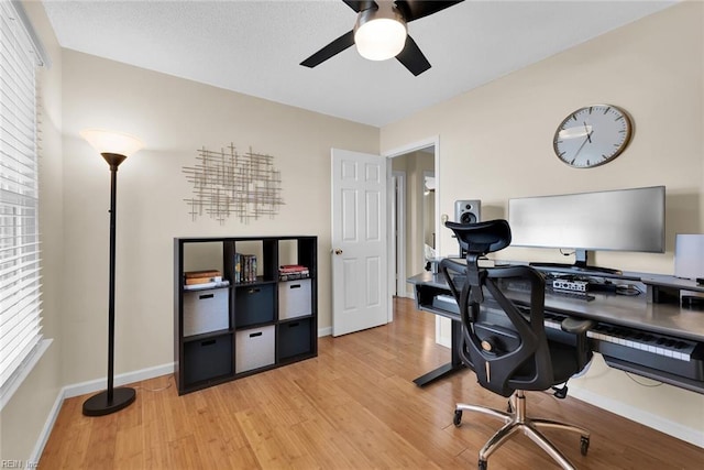
[[[468,186],[488,220],[506,217],[512,197],[664,185],[667,252],[597,253],[594,261],[672,274],[675,232],[704,231],[703,9],[701,2],[675,6],[386,125],[382,152],[438,134],[440,214],[450,217]],[[607,165],[570,168],[552,151],[554,130],[571,111],[600,102],[631,113],[634,140]],[[449,230],[439,240],[442,254],[453,252]],[[513,248],[501,256],[562,261],[557,250]],[[704,395],[640,386],[598,364],[574,381],[579,387],[602,405],[636,407],[626,409],[635,418],[704,431]]]

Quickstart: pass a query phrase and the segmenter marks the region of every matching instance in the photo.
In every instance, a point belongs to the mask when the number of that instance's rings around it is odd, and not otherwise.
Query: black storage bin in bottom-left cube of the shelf
[[[184,379],[196,383],[232,374],[232,335],[184,343]]]

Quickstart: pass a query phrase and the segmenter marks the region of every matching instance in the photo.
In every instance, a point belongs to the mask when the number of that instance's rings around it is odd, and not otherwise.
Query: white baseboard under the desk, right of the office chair
[[[650,414],[641,408],[629,406],[627,403],[617,402],[606,396],[596,394],[588,390],[570,387],[570,396],[586,402],[591,405],[598,406],[616,415],[623,416],[644,426],[657,429],[669,436],[690,442],[694,446],[704,448],[704,436],[697,429],[682,426],[670,419],[663,419],[661,416]]]

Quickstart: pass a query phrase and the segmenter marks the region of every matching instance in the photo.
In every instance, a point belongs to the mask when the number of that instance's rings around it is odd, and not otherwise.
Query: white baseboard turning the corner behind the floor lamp
[[[142,380],[167,375],[167,374],[174,373],[174,367],[175,367],[174,362],[169,362],[162,365],[155,365],[153,368],[146,368],[139,371],[119,374],[114,376],[114,384],[119,386],[128,383],[140,382]],[[40,437],[36,440],[36,444],[34,445],[34,449],[32,449],[30,461],[32,462],[40,461],[40,458],[42,457],[42,452],[44,451],[44,446],[46,446],[48,436],[52,434],[52,429],[54,428],[54,424],[56,423],[56,418],[58,417],[58,412],[61,412],[62,405],[64,404],[64,400],[70,398],[73,396],[85,395],[87,393],[100,392],[106,389],[107,382],[108,382],[107,378],[91,380],[88,382],[66,385],[58,392],[58,395],[56,396],[56,401],[54,402],[54,406],[52,406],[52,411],[46,417],[46,423],[42,428],[42,433],[40,434]]]

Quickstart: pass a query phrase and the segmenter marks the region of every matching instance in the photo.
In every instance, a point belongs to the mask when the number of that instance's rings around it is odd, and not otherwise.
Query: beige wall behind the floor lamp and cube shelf
[[[109,170],[78,136],[88,127],[140,136],[118,173],[116,373],[173,361],[173,238],[319,238],[319,328],[330,327],[330,149],[378,153],[378,129],[116,62],[64,51],[65,383],[105,376]],[[280,214],[241,222],[193,220],[182,168],[197,149],[271,154]]]

